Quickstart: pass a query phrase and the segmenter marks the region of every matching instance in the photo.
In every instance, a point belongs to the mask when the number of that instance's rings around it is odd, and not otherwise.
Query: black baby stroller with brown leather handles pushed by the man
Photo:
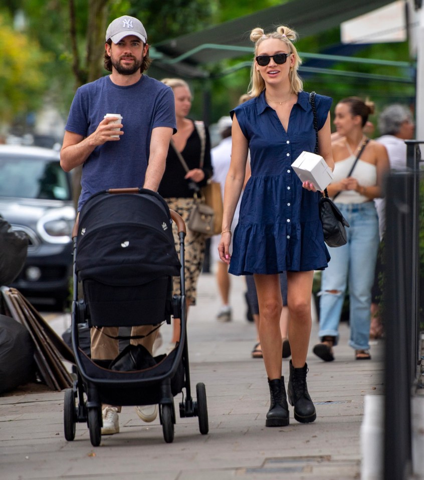
[[[177,225],[180,261],[172,235]],[[185,388],[180,417],[198,416],[200,433],[208,432],[206,391],[196,384],[190,392],[184,284],[185,223],[151,190],[120,189],[90,197],[73,231],[74,298],[72,344],[77,366],[73,388],[65,390],[65,438],[75,438],[77,422],[87,422],[94,446],[101,441],[102,403],[159,404],[166,442],[174,438],[173,397]],[[180,295],[172,295],[172,276],[180,276]],[[78,298],[78,281],[84,299]],[[78,324],[133,326],[181,320],[181,340],[168,355],[154,358],[148,368],[111,369],[94,361],[80,347]],[[134,338],[134,337],[133,337]],[[124,353],[124,352],[122,352]],[[76,406],[76,398],[78,404]]]

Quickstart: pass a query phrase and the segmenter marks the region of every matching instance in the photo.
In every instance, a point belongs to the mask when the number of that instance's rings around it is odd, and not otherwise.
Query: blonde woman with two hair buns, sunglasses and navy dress
[[[309,95],[302,90],[297,70],[301,63],[288,27],[264,34],[251,32],[255,42],[252,100],[232,111],[233,148],[224,194],[220,258],[230,273],[252,275],[258,293],[259,335],[271,394],[266,426],[289,424],[282,368],[279,273],[287,271],[289,340],[292,360],[288,397],[300,422],[316,418],[306,384],[306,355],[311,332],[313,271],[327,266],[328,251],[319,220],[319,194],[302,182],[291,164],[303,150],[315,148],[315,130]],[[331,99],[316,97],[320,154],[333,167],[329,109]],[[248,152],[252,176],[242,198],[239,223],[230,254],[231,222],[245,178]]]

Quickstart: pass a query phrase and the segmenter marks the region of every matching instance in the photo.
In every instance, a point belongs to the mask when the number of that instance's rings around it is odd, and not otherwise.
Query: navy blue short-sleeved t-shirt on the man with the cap
[[[102,190],[142,187],[152,130],[169,127],[176,131],[172,89],[146,75],[125,87],[115,85],[109,76],[80,87],[65,130],[88,137],[107,113],[122,116],[124,134],[119,141],[96,147],[84,162],[78,210]]]

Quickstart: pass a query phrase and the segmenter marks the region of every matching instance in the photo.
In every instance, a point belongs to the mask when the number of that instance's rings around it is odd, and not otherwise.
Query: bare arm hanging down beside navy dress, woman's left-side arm
[[[231,224],[233,222],[234,212],[242,193],[245,175],[246,161],[249,151],[249,142],[243,135],[236,114],[233,117],[232,127],[232,148],[231,162],[225,181],[224,189],[224,214],[223,214],[223,234],[221,243],[218,247],[220,258],[225,263],[230,263],[230,242],[231,242]]]

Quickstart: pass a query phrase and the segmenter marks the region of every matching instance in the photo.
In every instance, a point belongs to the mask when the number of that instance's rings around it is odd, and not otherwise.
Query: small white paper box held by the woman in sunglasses
[[[292,163],[302,182],[312,182],[317,190],[324,190],[333,180],[333,172],[325,160],[315,153],[302,152]]]

